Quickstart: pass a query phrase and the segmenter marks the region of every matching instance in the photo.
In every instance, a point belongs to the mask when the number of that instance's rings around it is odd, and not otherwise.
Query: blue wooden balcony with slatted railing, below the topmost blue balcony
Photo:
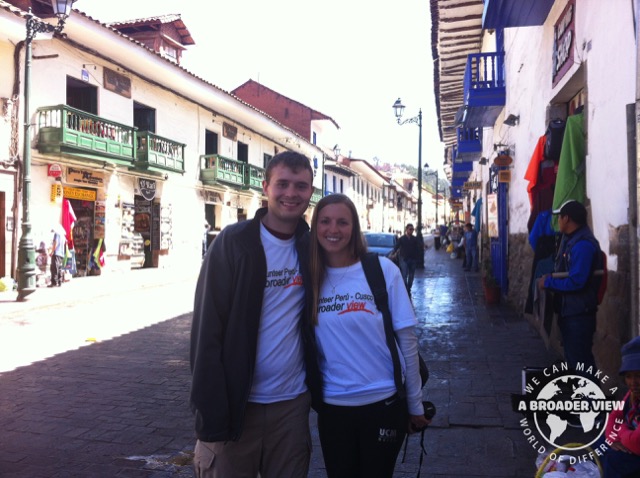
[[[465,128],[493,126],[506,101],[504,52],[475,53],[467,57],[464,74]]]

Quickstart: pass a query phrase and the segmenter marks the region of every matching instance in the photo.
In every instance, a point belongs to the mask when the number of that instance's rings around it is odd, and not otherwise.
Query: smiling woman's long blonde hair
[[[326,258],[324,250],[318,242],[318,215],[320,211],[331,204],[344,204],[351,212],[351,220],[353,222],[353,230],[351,231],[351,239],[349,248],[351,249],[351,257],[354,260],[360,260],[367,252],[367,246],[362,237],[360,228],[360,219],[358,218],[358,210],[353,201],[344,194],[330,194],[323,197],[313,211],[311,217],[311,233],[309,235],[309,273],[311,275],[311,323],[318,325],[318,303],[320,301],[320,287],[325,275]]]

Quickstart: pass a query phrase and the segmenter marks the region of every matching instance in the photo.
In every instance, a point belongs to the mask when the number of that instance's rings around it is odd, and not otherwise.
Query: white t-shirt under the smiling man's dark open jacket
[[[304,288],[295,238],[278,239],[260,225],[267,277],[250,402],[290,400],[307,390],[300,336]]]

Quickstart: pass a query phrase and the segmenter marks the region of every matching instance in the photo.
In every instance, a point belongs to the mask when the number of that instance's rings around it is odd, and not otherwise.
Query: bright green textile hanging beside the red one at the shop
[[[558,176],[553,194],[553,209],[568,199],[584,204],[586,199],[584,113],[569,116],[562,140]],[[558,217],[553,216],[553,228],[558,230]]]

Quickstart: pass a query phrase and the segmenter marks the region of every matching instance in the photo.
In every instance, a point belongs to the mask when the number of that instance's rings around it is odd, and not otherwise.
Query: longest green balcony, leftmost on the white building
[[[38,108],[38,151],[90,153],[133,162],[135,128],[67,105]]]

